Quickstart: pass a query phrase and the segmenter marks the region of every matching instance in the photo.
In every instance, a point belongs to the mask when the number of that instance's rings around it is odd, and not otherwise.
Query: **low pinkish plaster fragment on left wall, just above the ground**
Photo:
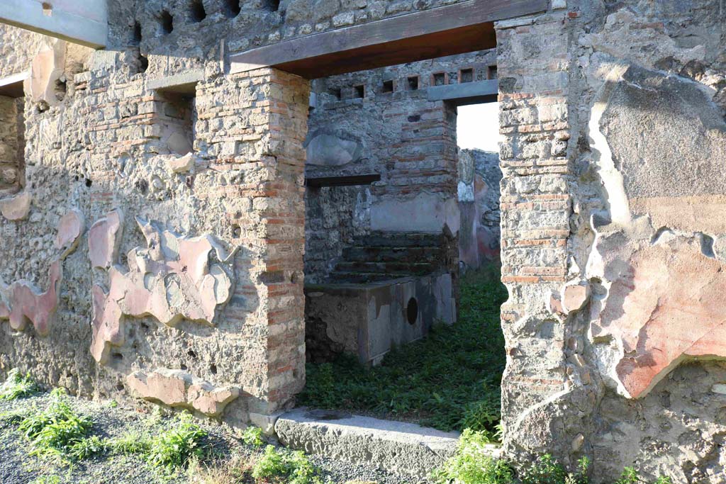
[[[136,372],[126,377],[126,383],[144,400],[197,410],[208,417],[221,415],[224,407],[240,395],[237,387],[215,387],[173,369],[158,369],[150,374]]]

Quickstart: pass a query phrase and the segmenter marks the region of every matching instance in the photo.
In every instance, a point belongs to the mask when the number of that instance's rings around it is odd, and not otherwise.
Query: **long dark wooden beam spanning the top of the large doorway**
[[[494,22],[546,9],[547,0],[462,1],[232,54],[231,72],[277,67],[314,79],[492,49]]]

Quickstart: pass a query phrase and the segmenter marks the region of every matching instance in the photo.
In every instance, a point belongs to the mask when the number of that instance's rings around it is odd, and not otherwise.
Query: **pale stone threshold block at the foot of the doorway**
[[[418,478],[449,459],[459,439],[457,432],[307,409],[282,414],[274,430],[285,446]]]

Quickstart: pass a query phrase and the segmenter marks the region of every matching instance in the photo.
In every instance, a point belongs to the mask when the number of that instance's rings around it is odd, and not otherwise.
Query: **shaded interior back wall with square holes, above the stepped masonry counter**
[[[493,51],[314,81],[306,177],[380,175],[370,186],[307,189],[306,278],[320,282],[371,230],[458,231],[456,108],[430,86],[496,75]],[[470,70],[470,71],[469,71]]]

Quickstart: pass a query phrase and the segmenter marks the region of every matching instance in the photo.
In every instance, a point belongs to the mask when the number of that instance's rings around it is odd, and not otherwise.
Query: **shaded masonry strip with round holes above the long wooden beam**
[[[152,70],[203,67],[223,40],[229,52],[240,52],[460,1],[110,0],[110,48],[140,42],[146,56],[167,54],[152,60]]]

